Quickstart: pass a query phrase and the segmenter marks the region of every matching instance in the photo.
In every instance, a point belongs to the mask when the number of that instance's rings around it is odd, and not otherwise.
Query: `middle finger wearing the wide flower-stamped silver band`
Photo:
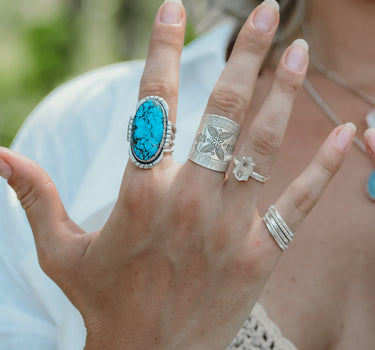
[[[279,6],[275,0],[265,0],[249,16],[238,35],[231,57],[211,93],[205,114],[228,118],[239,126],[243,124],[259,70],[277,29],[278,10]],[[213,127],[208,130],[213,138],[217,138],[218,142],[200,147],[196,154],[197,157],[193,157],[193,162],[186,164],[191,173],[190,177],[199,177],[200,181],[205,182],[211,188],[217,188],[222,184],[222,172],[224,171],[218,170],[218,168],[216,169],[218,171],[212,171],[213,168],[207,169],[204,162],[210,159],[211,152],[216,153],[219,160],[224,159],[226,151],[222,141],[228,140],[229,135],[233,134],[235,129],[232,128],[230,121],[230,130],[227,131],[221,129],[219,125],[216,128],[215,125],[212,125]],[[222,139],[220,136],[223,136]],[[233,142],[233,139],[230,139],[230,142]],[[228,144],[230,142],[227,141]],[[215,149],[212,149],[213,147]],[[197,160],[198,157],[201,161]],[[192,159],[192,157],[190,158]],[[198,166],[196,163],[202,166]],[[220,165],[225,167],[225,161],[222,163]]]

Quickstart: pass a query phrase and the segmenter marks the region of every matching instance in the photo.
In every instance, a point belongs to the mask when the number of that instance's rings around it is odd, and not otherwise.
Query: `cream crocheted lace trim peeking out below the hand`
[[[226,350],[297,350],[297,348],[282,336],[279,327],[268,318],[263,306],[257,303]]]

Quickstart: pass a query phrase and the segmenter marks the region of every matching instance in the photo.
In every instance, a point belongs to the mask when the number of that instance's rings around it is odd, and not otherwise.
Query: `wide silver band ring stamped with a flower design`
[[[189,159],[204,168],[225,173],[240,130],[240,126],[231,119],[214,114],[204,115]]]

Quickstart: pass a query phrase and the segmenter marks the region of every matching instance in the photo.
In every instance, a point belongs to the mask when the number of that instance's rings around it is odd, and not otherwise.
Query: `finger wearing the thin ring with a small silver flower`
[[[254,162],[254,168],[246,163],[247,168],[243,167],[243,164],[239,164],[238,169],[242,174],[250,169],[264,176],[264,180],[267,179],[284,138],[294,99],[303,85],[307,65],[307,43],[304,40],[296,40],[282,56],[270,93],[251,125],[248,137],[239,147],[238,162],[242,163],[243,157],[251,158]],[[237,177],[239,177],[238,174],[237,172]],[[245,212],[252,212],[263,182],[252,176],[247,182],[238,181],[237,177],[234,173],[230,174],[226,192],[230,198],[234,197],[236,201],[242,203]],[[254,200],[250,201],[249,198]]]

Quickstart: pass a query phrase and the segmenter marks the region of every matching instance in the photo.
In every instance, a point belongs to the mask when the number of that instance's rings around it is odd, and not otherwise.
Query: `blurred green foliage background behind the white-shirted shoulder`
[[[145,58],[162,0],[0,1],[0,145],[51,90],[94,68]],[[186,42],[194,38],[188,23]]]

